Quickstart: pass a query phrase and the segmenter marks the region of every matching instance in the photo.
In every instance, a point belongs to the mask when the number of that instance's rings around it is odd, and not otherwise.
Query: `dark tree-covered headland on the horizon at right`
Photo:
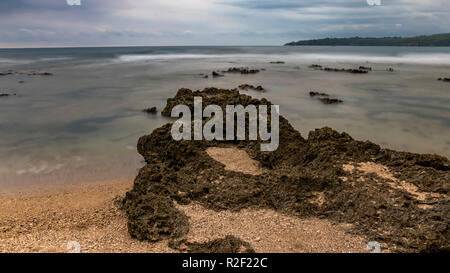
[[[325,38],[290,42],[286,46],[450,46],[450,33],[415,37]]]

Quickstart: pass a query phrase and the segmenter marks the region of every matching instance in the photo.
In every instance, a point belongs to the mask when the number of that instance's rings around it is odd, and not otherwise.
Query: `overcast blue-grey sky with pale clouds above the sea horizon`
[[[380,0],[369,0],[380,1]],[[0,47],[280,45],[450,32],[449,0],[0,0]]]

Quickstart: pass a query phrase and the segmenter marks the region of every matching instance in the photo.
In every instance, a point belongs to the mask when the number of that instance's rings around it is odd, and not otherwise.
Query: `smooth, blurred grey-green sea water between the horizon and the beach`
[[[269,64],[285,61],[285,64]],[[371,66],[366,75],[308,65]],[[200,73],[232,66],[255,75]],[[300,67],[300,69],[298,69]],[[394,72],[387,72],[393,67]],[[179,88],[263,85],[302,135],[329,126],[383,147],[450,156],[449,48],[137,47],[0,50],[0,187],[133,179],[142,166],[136,142],[166,123],[141,110],[165,106]],[[19,83],[23,80],[24,83]],[[324,105],[310,90],[344,100]]]

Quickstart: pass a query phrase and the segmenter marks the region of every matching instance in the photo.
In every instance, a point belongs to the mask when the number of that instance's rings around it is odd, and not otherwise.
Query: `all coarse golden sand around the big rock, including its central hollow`
[[[211,148],[208,153],[229,170],[263,171],[242,150]],[[140,242],[128,234],[115,200],[131,187],[132,182],[90,183],[5,194],[0,197],[0,252],[176,252],[166,241]],[[367,252],[368,241],[347,233],[349,225],[325,219],[298,219],[268,209],[216,212],[196,203],[177,208],[189,217],[189,241],[235,235],[261,253]]]

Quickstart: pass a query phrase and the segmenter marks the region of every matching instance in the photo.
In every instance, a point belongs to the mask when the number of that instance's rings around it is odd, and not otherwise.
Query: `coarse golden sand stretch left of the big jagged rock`
[[[81,252],[170,252],[128,235],[114,200],[131,187],[110,181],[1,195],[0,252],[64,253],[69,242]]]

